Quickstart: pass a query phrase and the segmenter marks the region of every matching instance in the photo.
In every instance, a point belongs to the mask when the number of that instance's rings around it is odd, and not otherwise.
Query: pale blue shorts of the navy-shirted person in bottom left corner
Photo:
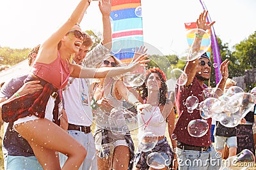
[[[4,169],[40,169],[43,170],[36,157],[10,156],[4,158]]]

